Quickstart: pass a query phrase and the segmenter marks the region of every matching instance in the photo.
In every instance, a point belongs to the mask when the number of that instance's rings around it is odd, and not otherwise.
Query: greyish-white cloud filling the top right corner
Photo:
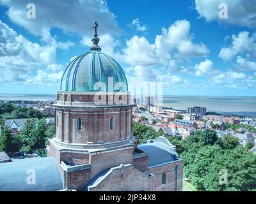
[[[219,18],[219,4],[225,3],[228,18]],[[207,21],[217,20],[221,24],[234,24],[242,27],[256,27],[255,0],[195,0],[195,9],[201,18]]]

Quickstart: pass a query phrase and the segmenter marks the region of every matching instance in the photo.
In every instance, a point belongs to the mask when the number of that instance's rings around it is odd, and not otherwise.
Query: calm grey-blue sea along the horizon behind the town
[[[47,101],[56,100],[56,94],[0,94],[0,100]],[[163,106],[182,110],[202,106],[207,112],[256,117],[256,96],[163,96]]]

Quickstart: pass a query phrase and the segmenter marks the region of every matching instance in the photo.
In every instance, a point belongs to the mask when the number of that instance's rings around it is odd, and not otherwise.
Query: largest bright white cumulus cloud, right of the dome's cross
[[[204,57],[209,53],[204,44],[196,44],[192,40],[189,22],[178,20],[168,29],[163,27],[154,43],[139,36],[127,40],[124,61],[132,65],[162,64],[168,68],[177,68],[176,59]]]

